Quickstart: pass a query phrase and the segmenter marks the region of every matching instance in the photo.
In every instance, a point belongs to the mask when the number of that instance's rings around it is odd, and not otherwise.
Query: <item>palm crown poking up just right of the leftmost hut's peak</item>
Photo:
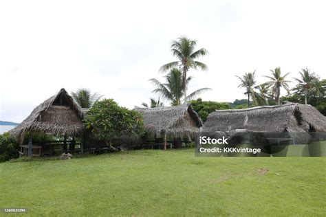
[[[72,98],[82,107],[83,109],[89,109],[95,102],[98,102],[102,95],[98,95],[98,93],[91,94],[89,89],[78,89],[75,92],[72,92]]]

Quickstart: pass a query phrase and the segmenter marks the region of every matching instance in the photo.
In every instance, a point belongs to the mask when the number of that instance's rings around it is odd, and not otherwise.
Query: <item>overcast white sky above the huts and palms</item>
[[[85,87],[132,109],[175,60],[171,41],[197,39],[208,71],[190,71],[204,100],[246,98],[235,75],[270,69],[326,76],[326,1],[1,1],[0,119],[21,122],[62,87]],[[284,92],[284,91],[283,91]]]

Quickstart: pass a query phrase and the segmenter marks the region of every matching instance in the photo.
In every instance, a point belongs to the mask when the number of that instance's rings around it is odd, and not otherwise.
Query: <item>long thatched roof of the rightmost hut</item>
[[[326,132],[326,117],[311,105],[288,103],[210,113],[203,132],[247,129],[253,132]]]

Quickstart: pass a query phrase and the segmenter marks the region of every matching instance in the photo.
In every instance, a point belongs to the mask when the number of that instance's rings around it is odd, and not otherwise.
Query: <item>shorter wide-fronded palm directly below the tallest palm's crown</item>
[[[162,98],[169,100],[173,106],[180,105],[182,102],[187,102],[188,100],[192,100],[199,94],[204,93],[204,91],[210,90],[210,88],[198,89],[185,97],[184,89],[182,89],[182,73],[179,69],[171,69],[170,73],[164,77],[166,78],[166,83],[161,83],[155,78],[150,79],[150,81],[155,85],[153,93],[160,94]],[[186,79],[186,89],[191,79],[192,77],[188,77]]]

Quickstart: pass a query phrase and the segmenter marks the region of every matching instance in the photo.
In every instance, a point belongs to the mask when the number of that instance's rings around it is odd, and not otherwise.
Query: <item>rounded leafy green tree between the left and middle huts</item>
[[[142,115],[134,110],[118,106],[112,99],[96,102],[87,112],[85,126],[98,139],[112,146],[113,139],[144,135]]]

